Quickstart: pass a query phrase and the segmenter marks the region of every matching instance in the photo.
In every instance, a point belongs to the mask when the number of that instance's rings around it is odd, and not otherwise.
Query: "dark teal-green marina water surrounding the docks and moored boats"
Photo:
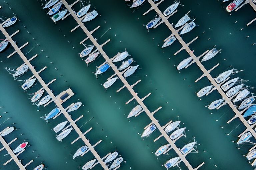
[[[95,71],[97,65],[104,62],[103,57],[99,57],[89,67],[86,67],[85,62],[77,54],[84,48],[79,42],[86,38],[86,35],[80,28],[70,33],[70,30],[77,25],[74,19],[69,16],[55,25],[41,8],[41,1],[6,0],[6,2],[8,4],[1,1],[2,9],[0,10],[0,15],[11,17],[15,13],[20,19],[20,22],[7,28],[7,32],[12,34],[17,29],[20,30],[20,33],[14,36],[13,39],[18,46],[29,42],[29,45],[22,49],[25,54],[36,43],[39,44],[26,56],[30,58],[40,53],[41,49],[43,50],[31,63],[36,70],[40,70],[44,66],[48,67],[40,75],[45,82],[49,82],[53,78],[57,79],[49,86],[55,95],[66,90],[69,86],[76,93],[63,106],[67,107],[71,103],[77,102],[78,99],[84,104],[84,107],[71,112],[71,115],[73,120],[80,115],[84,115],[77,122],[78,127],[93,118],[81,130],[86,131],[91,127],[93,128],[86,134],[92,144],[102,139],[102,142],[95,147],[99,155],[103,157],[117,148],[117,151],[122,154],[126,161],[126,163],[121,164],[120,169],[165,169],[161,164],[176,156],[175,152],[171,150],[169,155],[161,155],[158,159],[152,153],[152,151],[154,152],[158,147],[166,143],[163,138],[153,142],[160,134],[159,131],[154,132],[146,140],[141,140],[137,133],[142,133],[143,128],[150,123],[150,119],[143,113],[129,122],[125,115],[137,103],[131,102],[125,105],[125,102],[131,98],[127,90],[116,93],[116,90],[122,86],[121,81],[117,81],[105,91],[101,84],[114,72],[108,70],[98,79],[91,73]],[[74,1],[69,0],[68,2],[71,4]],[[163,11],[172,3],[172,1],[166,0],[159,5],[159,8]],[[237,140],[237,135],[245,127],[240,125],[236,128],[241,123],[238,119],[231,124],[226,124],[234,116],[228,106],[214,111],[209,111],[204,107],[213,100],[220,98],[217,91],[207,97],[203,97],[202,100],[196,97],[194,92],[210,83],[206,78],[197,83],[194,82],[202,75],[202,72],[195,64],[188,69],[181,70],[181,73],[176,70],[177,64],[187,58],[188,55],[184,50],[176,56],[173,55],[181,48],[178,42],[161,49],[160,46],[163,40],[171,34],[164,24],[161,24],[156,29],[151,29],[149,33],[147,33],[145,27],[142,27],[143,24],[147,24],[153,19],[155,15],[153,10],[146,16],[142,15],[150,8],[150,5],[144,3],[132,13],[132,10],[127,7],[127,3],[121,0],[92,0],[91,4],[92,7],[96,7],[101,16],[86,23],[85,26],[88,30],[93,30],[98,25],[101,26],[100,29],[93,33],[93,36],[97,39],[111,27],[111,30],[98,40],[101,44],[111,39],[103,47],[109,57],[114,56],[117,52],[124,51],[125,48],[129,54],[132,54],[132,57],[142,69],[137,70],[135,74],[128,77],[127,81],[133,84],[138,79],[141,79],[141,82],[134,87],[141,98],[149,92],[152,93],[144,101],[149,110],[154,111],[159,106],[162,106],[162,109],[155,114],[161,125],[165,125],[170,120],[175,121],[178,118],[184,123],[182,126],[187,128],[187,138],[179,139],[176,142],[177,146],[182,147],[193,137],[196,137],[196,141],[201,144],[198,146],[199,153],[190,153],[186,157],[191,165],[196,167],[201,162],[205,162],[201,169],[251,169],[250,164],[243,156],[247,154],[250,146],[242,146],[239,150],[237,145],[232,142],[232,140]],[[131,3],[129,4],[131,5]],[[185,42],[190,42],[196,36],[199,36],[199,39],[190,45],[190,48],[195,50],[194,53],[200,55],[207,49],[212,49],[214,45],[216,45],[216,48],[222,49],[221,53],[215,58],[203,63],[207,69],[220,63],[220,66],[212,71],[212,76],[217,76],[232,65],[235,69],[245,70],[239,73],[238,76],[245,80],[250,80],[246,84],[254,86],[256,80],[254,79],[253,61],[255,61],[256,53],[255,45],[251,44],[255,43],[256,38],[255,23],[249,27],[246,26],[255,17],[253,9],[247,4],[239,11],[232,12],[232,15],[229,16],[223,8],[227,4],[221,4],[220,1],[200,0],[193,2],[183,0],[181,4],[184,4],[184,7],[179,6],[178,12],[170,17],[169,21],[175,24],[191,10],[190,17],[196,18],[195,22],[200,26],[183,35],[182,38]],[[12,8],[12,10],[8,7]],[[78,11],[79,3],[72,8]],[[242,28],[244,29],[239,31]],[[204,31],[205,33],[203,34]],[[250,37],[246,38],[247,36]],[[154,40],[152,40],[153,38]],[[210,40],[208,40],[209,38]],[[4,39],[3,35],[1,35],[1,39]],[[90,41],[85,43],[91,44]],[[158,44],[160,45],[158,46]],[[11,144],[11,147],[15,148],[24,139],[27,139],[31,146],[18,156],[23,164],[26,164],[31,159],[34,160],[27,169],[33,169],[41,162],[49,170],[79,169],[80,165],[83,166],[87,161],[93,159],[93,155],[89,152],[83,157],[77,158],[76,161],[72,160],[70,153],[74,153],[83,144],[81,139],[75,144],[70,144],[78,136],[75,131],[71,132],[61,143],[55,139],[55,134],[51,131],[51,128],[65,121],[64,116],[61,115],[55,120],[50,120],[49,124],[40,119],[41,116],[47,114],[55,106],[51,103],[45,108],[40,107],[40,111],[36,111],[37,107],[31,105],[27,95],[37,91],[41,86],[36,84],[27,93],[22,92],[19,87],[22,83],[14,81],[8,72],[3,69],[3,67],[16,68],[23,63],[17,54],[7,59],[6,56],[11,52],[13,52],[13,48],[9,47],[0,54],[0,60],[4,61],[0,63],[2,68],[0,72],[2,82],[0,105],[3,106],[0,109],[2,116],[0,124],[7,118],[11,118],[0,127],[3,129],[6,126],[13,126],[11,124],[15,123],[14,126],[19,129],[6,136],[6,141],[8,142],[14,137],[18,137],[18,140]],[[226,60],[224,60],[225,58]],[[29,78],[31,75],[31,72],[27,72],[20,79]],[[184,80],[185,78],[186,80]],[[218,122],[215,120],[218,120]],[[232,131],[234,128],[236,129]],[[230,135],[226,135],[230,131],[232,131]],[[20,134],[23,135],[20,136]],[[32,152],[33,150],[35,151]],[[6,151],[0,153],[0,168],[4,170],[18,169],[13,161],[3,166],[3,163],[10,158],[9,156],[3,156],[4,154],[6,154]],[[36,158],[37,156],[39,157]],[[217,165],[217,167],[214,165]],[[183,163],[181,163],[181,168],[186,169]],[[102,168],[97,165],[94,169]]]

